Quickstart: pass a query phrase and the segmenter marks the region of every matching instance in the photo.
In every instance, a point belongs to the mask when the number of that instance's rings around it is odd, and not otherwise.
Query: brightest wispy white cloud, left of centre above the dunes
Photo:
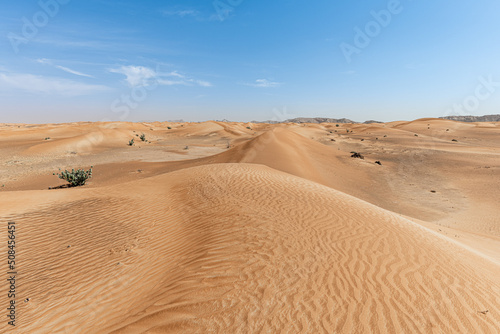
[[[162,73],[162,72],[157,72],[149,67],[131,66],[131,65],[112,68],[109,71],[112,73],[119,73],[125,75],[126,76],[125,81],[131,87],[149,86],[152,84],[159,84],[163,86],[197,85],[202,87],[212,87],[212,84],[208,81],[190,78],[184,74],[180,74],[177,71]]]

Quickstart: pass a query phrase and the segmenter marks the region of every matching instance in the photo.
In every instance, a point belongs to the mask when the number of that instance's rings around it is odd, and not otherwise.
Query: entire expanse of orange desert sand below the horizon
[[[0,332],[500,332],[500,123],[0,124],[0,156]]]

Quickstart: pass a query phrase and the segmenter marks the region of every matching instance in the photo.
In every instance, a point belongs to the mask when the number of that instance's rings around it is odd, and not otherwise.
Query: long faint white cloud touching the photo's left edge
[[[65,96],[89,95],[110,90],[102,85],[88,85],[73,80],[23,73],[0,73],[0,88]]]

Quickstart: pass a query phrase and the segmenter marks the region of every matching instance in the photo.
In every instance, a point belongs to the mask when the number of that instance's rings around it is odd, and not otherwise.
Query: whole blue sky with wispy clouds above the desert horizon
[[[2,1],[0,122],[500,113],[500,2]]]

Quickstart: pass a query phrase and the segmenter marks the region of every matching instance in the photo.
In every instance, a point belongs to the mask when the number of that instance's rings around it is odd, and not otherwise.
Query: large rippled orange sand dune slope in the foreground
[[[214,164],[44,197],[4,211],[20,226],[24,333],[500,330],[497,266],[269,167]]]

